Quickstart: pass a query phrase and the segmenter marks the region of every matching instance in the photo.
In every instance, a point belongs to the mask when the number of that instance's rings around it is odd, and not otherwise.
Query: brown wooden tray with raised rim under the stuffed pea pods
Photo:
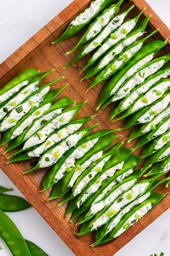
[[[73,56],[66,56],[66,51],[73,48],[75,43],[79,40],[80,35],[76,35],[74,38],[66,40],[56,46],[50,46],[50,42],[55,38],[58,38],[63,30],[66,28],[68,23],[75,17],[82,9],[84,9],[89,0],[76,0],[73,1],[66,9],[58,14],[53,20],[51,20],[45,27],[43,27],[37,34],[35,34],[27,43],[19,48],[12,56],[9,56],[6,61],[0,65],[0,85],[3,86],[7,81],[11,80],[14,75],[22,71],[27,67],[34,67],[35,69],[40,69],[45,71],[47,69],[55,68],[56,72],[50,74],[50,76],[45,81],[50,81],[55,79],[55,77],[65,75],[66,80],[60,82],[55,87],[59,87],[66,82],[70,85],[61,94],[71,96],[76,102],[84,101],[89,99],[86,106],[82,108],[79,116],[93,115],[97,114],[95,107],[97,106],[97,98],[99,95],[99,90],[101,86],[98,86],[91,90],[89,93],[85,93],[88,89],[89,80],[80,83],[83,78],[80,70],[84,67],[87,59],[82,59],[76,64],[73,64],[68,69],[63,69],[63,65],[66,64]],[[170,32],[168,27],[160,20],[151,7],[146,4],[146,1],[133,0],[125,1],[121,11],[126,9],[133,2],[138,6],[130,12],[131,17],[135,17],[136,14],[140,12],[141,9],[146,7],[146,12],[144,15],[152,14],[151,22],[148,25],[148,31],[151,32],[154,28],[160,28],[160,33],[153,35],[153,38],[170,38]],[[130,16],[129,16],[130,17]],[[169,52],[169,46],[166,46],[159,55],[166,54]],[[105,109],[102,114],[97,115],[90,124],[96,122],[100,123],[98,129],[114,129],[117,127],[123,127],[123,121],[118,121],[116,123],[111,123],[109,121],[109,112],[113,106]],[[124,140],[130,134],[130,130],[122,131],[119,133],[120,140]],[[129,147],[133,147],[135,142],[129,144]],[[0,148],[0,153],[2,153],[4,148]],[[136,152],[140,154],[140,150]],[[130,230],[126,231],[125,234],[120,236],[114,242],[105,244],[101,247],[96,247],[94,249],[89,248],[89,244],[94,242],[94,235],[90,234],[83,236],[82,238],[77,238],[75,233],[78,227],[74,223],[69,224],[68,218],[64,218],[64,213],[66,210],[66,205],[58,207],[58,200],[52,202],[46,202],[50,192],[40,192],[42,189],[41,181],[45,174],[45,170],[35,171],[32,174],[26,176],[22,175],[23,171],[30,168],[30,162],[17,163],[6,165],[6,157],[1,155],[0,168],[4,173],[9,176],[9,179],[18,187],[22,194],[30,201],[30,203],[35,207],[35,209],[40,213],[40,215],[45,218],[45,221],[52,227],[52,229],[58,234],[58,236],[63,239],[68,247],[76,255],[114,255],[121,247],[127,244],[134,236],[136,236],[140,231],[146,228],[152,221],[154,221],[158,216],[164,213],[170,206],[170,195],[167,197],[154,209],[151,213],[148,213],[145,218],[139,221]],[[164,186],[158,188],[159,192],[169,192],[168,189],[164,189]],[[57,250],[57,248],[56,248]],[[56,251],[57,253],[57,251]]]

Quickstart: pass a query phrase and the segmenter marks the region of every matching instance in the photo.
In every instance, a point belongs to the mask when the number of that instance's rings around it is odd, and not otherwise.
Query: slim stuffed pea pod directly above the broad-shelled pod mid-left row
[[[65,140],[57,143],[40,157],[40,160],[37,162],[37,165],[34,168],[31,168],[29,171],[25,171],[24,174],[28,174],[39,168],[53,166],[63,157],[63,155],[68,152],[68,150],[75,148],[76,145],[79,145],[79,142],[82,142],[93,128],[94,127],[88,127],[82,129],[79,132],[68,136]]]

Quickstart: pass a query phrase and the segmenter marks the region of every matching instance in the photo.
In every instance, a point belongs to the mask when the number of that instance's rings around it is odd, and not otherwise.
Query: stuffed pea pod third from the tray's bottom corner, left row
[[[120,212],[122,208],[143,195],[149,189],[149,187],[152,186],[155,179],[156,177],[154,176],[151,179],[146,179],[138,182],[137,184],[133,184],[133,186],[128,188],[128,190],[122,190],[121,195],[117,192],[117,190],[115,190],[115,196],[112,195],[112,197],[107,197],[107,200],[109,199],[108,204],[105,205],[104,208],[91,219],[91,221],[88,221],[81,226],[81,231],[78,235],[82,236],[91,231],[95,231],[99,229],[99,227],[108,223],[114,216],[117,215],[117,213]],[[158,184],[160,184],[160,182],[158,182]]]

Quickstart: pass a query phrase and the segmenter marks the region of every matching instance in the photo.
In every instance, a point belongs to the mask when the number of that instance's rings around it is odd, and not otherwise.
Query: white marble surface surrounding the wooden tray
[[[70,2],[71,0],[0,0],[0,63]],[[170,26],[170,0],[148,0],[148,3],[166,25]],[[20,195],[2,172],[0,185],[13,187],[14,195]],[[45,249],[48,255],[73,255],[33,208],[10,213],[9,216],[23,236]],[[0,256],[11,255],[1,239],[0,244],[4,248],[0,250]],[[165,256],[170,256],[170,210],[123,247],[116,256],[150,256],[153,253],[159,255],[161,251],[165,252]]]

